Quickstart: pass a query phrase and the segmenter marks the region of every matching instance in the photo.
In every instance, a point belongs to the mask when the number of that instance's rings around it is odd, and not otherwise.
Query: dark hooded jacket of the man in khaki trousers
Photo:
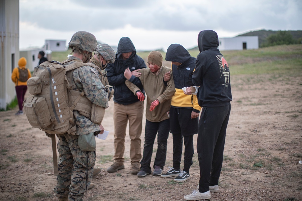
[[[123,60],[122,53],[132,52],[132,55]],[[136,54],[136,49],[128,37],[122,37],[117,45],[116,59],[113,64],[108,64],[106,68],[109,85],[114,89],[114,102],[128,105],[140,101],[126,86],[124,71],[129,68],[130,71],[147,68],[145,61]],[[139,80],[139,79],[137,79]],[[135,83],[144,93],[140,82]]]

